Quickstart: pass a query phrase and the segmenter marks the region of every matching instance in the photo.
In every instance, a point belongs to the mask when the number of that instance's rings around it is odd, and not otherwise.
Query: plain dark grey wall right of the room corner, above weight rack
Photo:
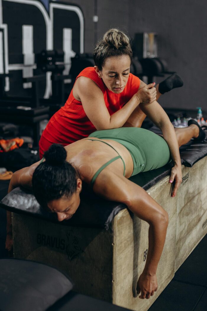
[[[184,86],[160,98],[163,106],[207,110],[207,9],[205,0],[129,1],[129,33],[157,32],[158,53]],[[159,81],[157,79],[157,81]]]

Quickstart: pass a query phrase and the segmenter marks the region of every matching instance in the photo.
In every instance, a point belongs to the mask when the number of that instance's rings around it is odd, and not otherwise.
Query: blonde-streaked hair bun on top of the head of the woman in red
[[[113,46],[116,49],[128,46],[130,44],[128,36],[117,28],[108,30],[103,36],[103,41],[107,45]]]

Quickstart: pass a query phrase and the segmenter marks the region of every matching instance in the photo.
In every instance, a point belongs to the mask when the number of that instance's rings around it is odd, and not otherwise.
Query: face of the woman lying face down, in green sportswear
[[[70,198],[61,197],[47,203],[48,208],[57,214],[58,221],[68,220],[77,211],[80,205],[80,192],[82,189],[81,179],[77,179],[76,192]]]

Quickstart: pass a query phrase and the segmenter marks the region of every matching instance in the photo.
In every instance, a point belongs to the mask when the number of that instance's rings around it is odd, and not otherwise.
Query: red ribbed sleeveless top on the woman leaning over
[[[83,69],[78,77],[81,76],[90,78],[100,87],[110,115],[121,109],[138,91],[140,85],[139,78],[130,73],[124,90],[120,94],[115,94],[107,89],[94,67]],[[65,105],[52,116],[42,133],[39,141],[40,158],[53,143],[66,146],[88,137],[94,131],[96,128],[85,114],[82,103],[74,98],[72,90]]]

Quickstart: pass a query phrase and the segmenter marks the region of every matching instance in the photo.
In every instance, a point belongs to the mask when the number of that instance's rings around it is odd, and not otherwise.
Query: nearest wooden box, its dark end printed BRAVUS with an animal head
[[[68,274],[74,290],[132,310],[147,310],[174,276],[177,197],[170,197],[169,177],[147,191],[169,214],[158,265],[158,290],[139,299],[137,280],[145,265],[149,225],[127,209],[114,218],[113,233],[69,227],[12,213],[14,257],[52,265]]]

